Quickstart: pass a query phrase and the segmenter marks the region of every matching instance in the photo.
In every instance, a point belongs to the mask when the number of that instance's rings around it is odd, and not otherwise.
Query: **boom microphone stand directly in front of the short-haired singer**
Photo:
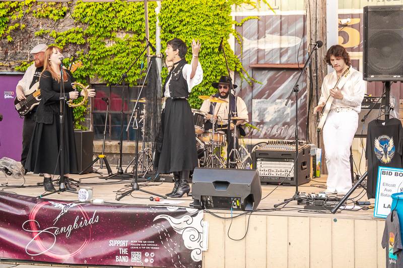
[[[139,95],[137,97],[135,108],[133,109],[133,114],[135,115],[135,122],[134,123],[136,124],[136,127],[135,127],[135,129],[136,129],[136,161],[135,161],[136,167],[135,167],[135,173],[133,173],[133,175],[132,175],[133,182],[131,184],[132,186],[131,186],[130,190],[128,190],[126,192],[123,192],[119,197],[116,197],[116,200],[118,200],[118,201],[120,199],[122,199],[124,196],[131,194],[133,191],[142,191],[142,192],[145,192],[145,193],[148,193],[148,194],[157,195],[157,196],[159,196],[161,198],[167,198],[164,195],[159,195],[159,194],[156,194],[156,193],[153,193],[153,192],[149,192],[149,191],[140,189],[139,183],[138,183],[138,180],[139,180],[139,125],[137,124],[137,122],[138,122],[138,119],[139,119],[138,118],[139,108],[137,107],[137,104],[139,103],[140,95],[141,95],[141,93],[143,91],[144,84],[146,83],[147,76],[150,73],[151,65],[152,65],[152,61],[150,60],[150,64],[148,66],[146,78],[144,79],[144,83],[143,83],[142,88],[140,89]],[[149,103],[149,105],[151,105],[151,104]],[[145,127],[145,126],[143,125],[143,127]]]

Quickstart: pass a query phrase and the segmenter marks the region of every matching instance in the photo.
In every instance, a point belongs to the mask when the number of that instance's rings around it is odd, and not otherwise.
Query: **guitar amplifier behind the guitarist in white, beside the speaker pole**
[[[379,113],[383,114],[385,109],[385,97],[377,102],[378,99],[379,96],[365,96],[363,101],[361,102],[361,112],[358,114],[358,127],[354,135],[355,138],[367,138],[368,123],[375,119],[385,119],[384,115],[379,116]],[[362,122],[361,120],[368,113],[368,111],[371,110],[372,107],[372,111],[368,114],[365,121]],[[380,112],[379,109],[381,110]]]

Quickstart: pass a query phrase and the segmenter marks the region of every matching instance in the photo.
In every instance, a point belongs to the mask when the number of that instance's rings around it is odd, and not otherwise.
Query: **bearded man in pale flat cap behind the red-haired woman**
[[[16,88],[16,95],[19,101],[25,99],[25,95],[32,93],[30,89],[36,83],[39,83],[39,77],[43,71],[43,62],[45,60],[45,50],[47,45],[38,44],[32,48],[30,54],[34,57],[34,63],[30,65],[25,71],[24,77],[18,82]],[[36,106],[37,107],[37,106]],[[24,124],[22,128],[22,152],[21,164],[25,166],[27,155],[29,151],[29,144],[31,136],[35,127],[35,112],[36,107],[30,113],[24,116]]]

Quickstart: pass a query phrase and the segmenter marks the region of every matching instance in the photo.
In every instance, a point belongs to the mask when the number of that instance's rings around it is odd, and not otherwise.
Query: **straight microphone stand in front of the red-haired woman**
[[[63,79],[63,62],[60,60],[60,97],[59,97],[59,105],[60,105],[60,111],[59,111],[59,123],[60,123],[60,129],[59,129],[59,173],[60,173],[60,179],[59,179],[59,189],[48,192],[45,194],[38,195],[38,198],[42,198],[46,195],[50,195],[53,193],[60,193],[60,192],[73,192],[78,194],[78,191],[71,191],[66,189],[66,186],[64,184],[64,79]]]

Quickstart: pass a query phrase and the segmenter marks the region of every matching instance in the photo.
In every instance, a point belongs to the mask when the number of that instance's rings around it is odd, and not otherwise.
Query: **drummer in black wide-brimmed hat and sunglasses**
[[[237,136],[240,134],[241,136],[245,136],[245,130],[243,129],[242,125],[248,122],[248,110],[246,109],[245,102],[240,98],[236,97],[234,94],[231,93],[230,95],[230,84],[229,84],[229,77],[222,76],[219,82],[212,83],[212,86],[218,89],[218,93],[214,95],[216,98],[221,98],[226,100],[225,103],[217,103],[212,102],[210,100],[205,100],[203,104],[201,104],[200,110],[207,113],[207,120],[205,123],[205,130],[212,128],[212,117],[217,120],[218,130],[226,131],[228,125],[228,107],[229,101],[231,101],[231,111],[232,116],[236,116],[240,119],[235,120],[235,124],[237,125]],[[234,89],[237,88],[237,85],[233,85]],[[236,104],[236,105],[235,105]],[[231,122],[231,129],[234,129],[234,123]],[[227,140],[228,142],[228,140]],[[230,145],[229,150],[233,149],[234,140],[233,137],[230,137]],[[236,139],[236,147],[238,149],[238,137]],[[231,155],[231,161],[232,159]]]

